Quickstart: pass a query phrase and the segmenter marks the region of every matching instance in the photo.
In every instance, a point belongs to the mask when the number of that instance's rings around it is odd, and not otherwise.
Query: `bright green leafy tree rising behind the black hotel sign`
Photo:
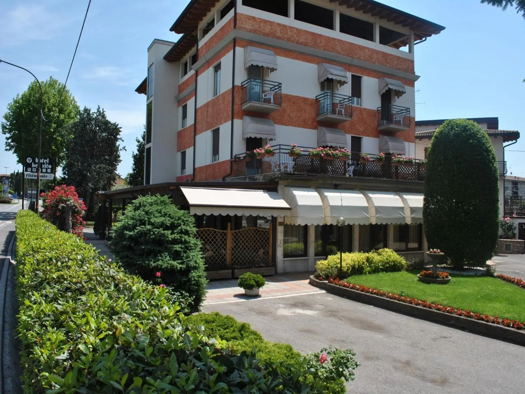
[[[53,77],[40,82],[45,121],[42,123],[42,157],[56,158],[58,164],[64,160],[68,126],[77,119],[79,107],[68,89],[60,98],[64,84]],[[40,124],[40,88],[36,81],[29,84],[22,95],[7,105],[2,122],[2,134],[6,135],[5,149],[16,154],[19,163],[26,156],[38,155]]]

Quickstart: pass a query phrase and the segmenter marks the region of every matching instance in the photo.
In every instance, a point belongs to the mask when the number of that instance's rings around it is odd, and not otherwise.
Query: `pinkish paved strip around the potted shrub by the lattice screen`
[[[248,301],[260,298],[291,296],[304,293],[324,293],[317,287],[310,286],[311,273],[283,274],[267,276],[266,285],[260,289],[259,297],[247,297],[244,290],[237,287],[237,279],[223,279],[208,282],[204,304]]]

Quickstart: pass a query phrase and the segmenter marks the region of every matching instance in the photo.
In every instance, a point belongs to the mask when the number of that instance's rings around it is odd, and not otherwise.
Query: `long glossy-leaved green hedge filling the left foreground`
[[[317,354],[298,367],[233,351],[190,327],[168,289],[124,273],[33,212],[17,215],[16,260],[27,394],[321,393],[353,379],[358,365],[350,350],[329,351],[333,361],[314,368]],[[328,368],[337,375],[321,374]]]

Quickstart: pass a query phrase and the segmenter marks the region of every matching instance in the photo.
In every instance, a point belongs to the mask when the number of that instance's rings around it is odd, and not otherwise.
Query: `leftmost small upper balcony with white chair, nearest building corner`
[[[250,78],[241,84],[241,105],[245,111],[271,113],[282,105],[282,84]]]

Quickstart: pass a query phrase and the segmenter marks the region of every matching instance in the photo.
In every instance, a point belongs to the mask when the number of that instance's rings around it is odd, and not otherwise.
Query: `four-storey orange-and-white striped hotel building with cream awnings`
[[[424,168],[360,153],[416,154],[414,47],[443,29],[371,0],[192,0],[136,89],[150,186],[100,198],[173,195],[211,277],[311,270],[339,248],[423,258]],[[275,155],[237,160],[266,144]],[[310,158],[317,147],[352,158]]]

